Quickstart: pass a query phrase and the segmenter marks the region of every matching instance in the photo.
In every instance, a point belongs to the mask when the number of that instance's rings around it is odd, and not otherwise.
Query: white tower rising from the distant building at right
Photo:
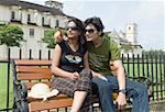
[[[135,23],[130,23],[125,27],[125,38],[131,44],[138,44],[136,42],[138,36],[138,25]]]

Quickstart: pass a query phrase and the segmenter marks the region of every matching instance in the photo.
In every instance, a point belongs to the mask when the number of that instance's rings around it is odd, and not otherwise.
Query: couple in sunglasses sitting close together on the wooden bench
[[[119,91],[119,109],[127,104],[125,97],[131,97],[133,112],[148,112],[146,87],[125,79],[120,49],[105,37],[99,18],[87,19],[85,25],[78,19],[68,21],[67,40],[55,46],[52,71],[55,74],[53,88],[74,98],[70,112],[92,112],[91,85],[98,88],[102,112],[116,111],[113,91]]]

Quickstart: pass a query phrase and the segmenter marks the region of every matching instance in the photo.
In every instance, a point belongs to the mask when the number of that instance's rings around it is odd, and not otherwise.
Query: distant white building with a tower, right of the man
[[[138,43],[138,25],[135,23],[127,24],[124,31],[112,31],[109,33],[112,35],[112,40],[114,40],[121,46],[121,54],[124,57],[138,57],[138,55],[142,56],[142,46]],[[122,45],[128,46],[128,48],[122,48]]]

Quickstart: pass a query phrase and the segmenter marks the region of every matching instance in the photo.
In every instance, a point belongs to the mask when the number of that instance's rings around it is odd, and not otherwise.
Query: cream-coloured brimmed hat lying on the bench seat
[[[47,100],[50,97],[57,96],[58,92],[59,91],[57,89],[53,89],[51,91],[50,87],[45,83],[35,83],[28,93],[28,97]]]

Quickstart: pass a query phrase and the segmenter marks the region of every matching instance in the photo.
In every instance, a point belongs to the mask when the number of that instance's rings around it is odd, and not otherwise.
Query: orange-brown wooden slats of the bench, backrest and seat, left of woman
[[[53,76],[51,71],[51,65],[52,60],[12,60],[13,82],[15,82],[15,85],[13,85],[15,86],[13,89],[15,98],[18,98],[16,83],[20,82],[25,83],[28,91],[32,88],[33,85],[37,82],[43,82],[51,87]],[[50,98],[48,101],[45,102],[37,99],[28,99],[28,101],[29,110],[31,112],[67,108],[70,107],[73,103],[73,99],[68,98],[65,94],[58,94],[55,98]]]

